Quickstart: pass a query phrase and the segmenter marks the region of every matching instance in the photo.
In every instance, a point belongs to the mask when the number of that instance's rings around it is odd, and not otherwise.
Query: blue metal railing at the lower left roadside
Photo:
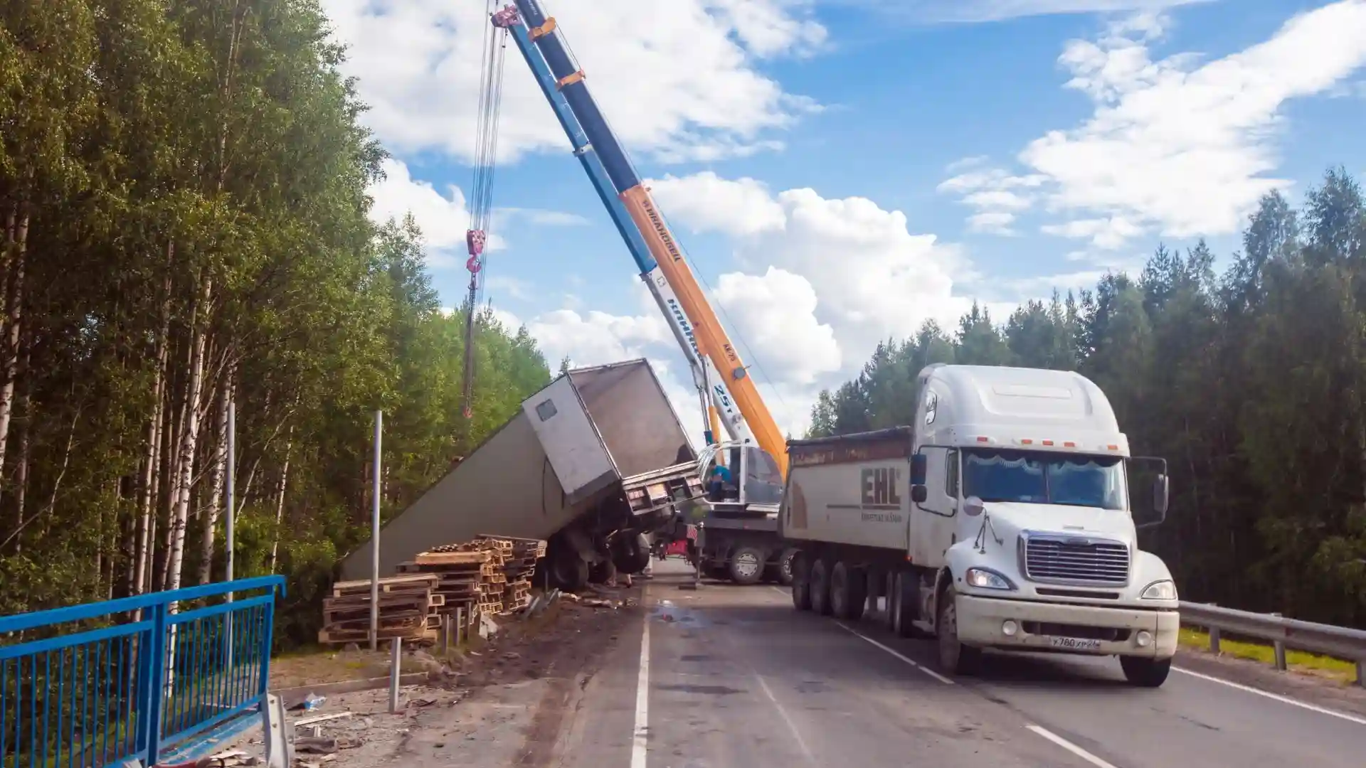
[[[0,768],[153,765],[255,711],[283,592],[260,577],[0,616]]]

